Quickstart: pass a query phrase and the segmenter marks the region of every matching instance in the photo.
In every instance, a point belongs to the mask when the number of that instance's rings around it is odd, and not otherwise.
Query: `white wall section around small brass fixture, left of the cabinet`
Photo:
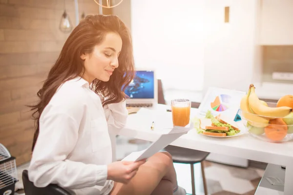
[[[247,91],[253,82],[258,0],[205,0],[205,77],[209,86]],[[224,7],[230,22],[224,23]],[[258,51],[259,52],[259,51]]]

